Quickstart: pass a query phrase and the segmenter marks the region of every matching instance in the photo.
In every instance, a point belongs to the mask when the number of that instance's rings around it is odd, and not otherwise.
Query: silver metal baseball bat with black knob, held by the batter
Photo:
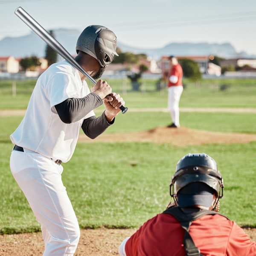
[[[70,53],[51,35],[45,30],[34,18],[32,18],[22,7],[18,7],[14,12],[27,26],[29,26],[37,35],[39,35],[52,49],[55,50],[61,57],[68,61],[74,68],[79,70],[86,76],[93,84],[96,80],[93,79],[79,63],[70,55]],[[120,109],[124,114],[128,108],[121,106]]]

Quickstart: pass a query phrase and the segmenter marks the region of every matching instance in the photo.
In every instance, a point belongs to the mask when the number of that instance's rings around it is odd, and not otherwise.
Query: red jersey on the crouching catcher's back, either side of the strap
[[[158,214],[128,239],[126,255],[185,256],[184,233],[175,217]],[[189,234],[204,256],[256,256],[256,243],[234,221],[218,214],[193,221]]]

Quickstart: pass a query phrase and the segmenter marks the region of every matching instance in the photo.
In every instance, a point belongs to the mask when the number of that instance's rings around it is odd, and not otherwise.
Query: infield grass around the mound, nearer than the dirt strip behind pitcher
[[[119,115],[120,120],[117,119],[113,130],[108,132],[134,131],[134,123],[139,122],[136,119],[138,114],[141,115],[139,120],[143,119],[143,113]],[[152,126],[155,127],[163,115],[166,120],[169,119],[168,113],[144,114],[144,120],[147,122],[141,122],[143,127],[135,125],[138,129],[148,130]],[[191,116],[183,114],[183,122],[189,127]],[[217,123],[216,119],[218,121],[219,117],[218,113],[208,113],[211,121],[205,122],[204,118],[200,118],[201,113],[193,114],[197,119],[197,125],[203,126],[204,130],[212,130],[212,124]],[[228,122],[220,125],[221,131],[241,132],[236,125],[237,120],[244,122],[249,118],[253,123],[256,122],[255,114],[233,114],[232,118],[229,113],[223,115],[226,115]],[[9,155],[12,150],[9,134],[19,124],[21,118],[0,117],[0,128],[3,131],[0,134],[2,234],[40,230],[26,198],[9,170]],[[250,129],[250,125],[249,128],[244,125],[242,130],[256,133],[255,126],[253,130]],[[175,164],[188,152],[206,152],[217,161],[225,186],[224,198],[221,199],[221,213],[228,215],[240,225],[256,227],[256,143],[183,147],[167,143],[78,143],[70,162],[63,164],[62,177],[81,228],[137,227],[161,212],[170,199],[169,182]]]

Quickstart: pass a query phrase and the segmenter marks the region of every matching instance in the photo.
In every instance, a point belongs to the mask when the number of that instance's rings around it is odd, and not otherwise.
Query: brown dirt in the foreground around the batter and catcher
[[[75,256],[119,255],[119,244],[135,229],[81,230],[81,238]],[[244,229],[251,240],[256,241],[256,229]],[[44,242],[41,233],[26,233],[0,236],[1,256],[41,256]]]

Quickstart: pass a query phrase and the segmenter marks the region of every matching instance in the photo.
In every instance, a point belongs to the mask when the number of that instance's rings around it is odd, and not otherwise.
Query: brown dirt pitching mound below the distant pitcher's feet
[[[208,143],[249,143],[256,141],[256,134],[224,133],[199,131],[191,128],[157,127],[149,131],[122,134],[101,134],[94,140],[85,135],[79,136],[79,142],[153,142],[172,143],[177,146],[203,145]]]

